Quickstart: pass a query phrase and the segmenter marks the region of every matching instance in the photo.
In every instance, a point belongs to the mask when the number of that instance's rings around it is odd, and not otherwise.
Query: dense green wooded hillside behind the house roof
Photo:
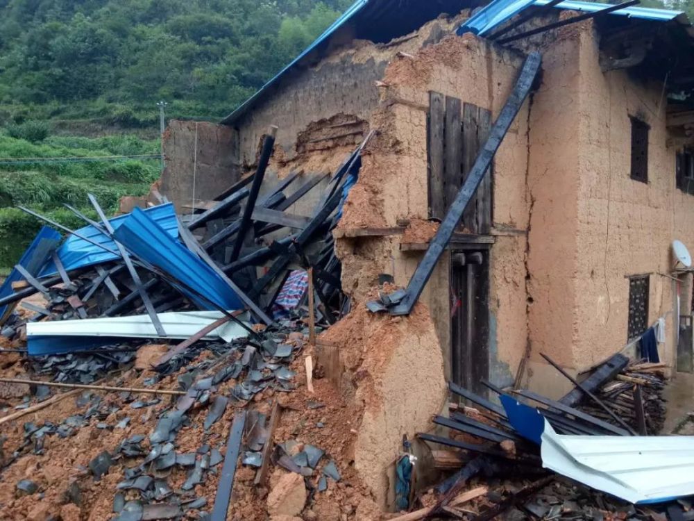
[[[0,0],[0,124],[221,117],[350,0]]]

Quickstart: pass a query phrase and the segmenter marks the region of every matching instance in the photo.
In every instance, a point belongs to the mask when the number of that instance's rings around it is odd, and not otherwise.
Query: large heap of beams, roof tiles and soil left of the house
[[[290,192],[290,174],[260,197],[273,131],[255,174],[192,217],[162,198],[109,220],[90,197],[100,222],[74,210],[86,226],[72,231],[26,210],[49,226],[0,289],[17,348],[0,356],[21,377],[1,379],[17,390],[0,420],[3,513],[317,519],[339,498],[339,515],[378,517],[349,466],[359,411],[307,343],[349,309],[331,231],[366,141],[311,217],[286,210],[325,176]],[[66,479],[49,476],[52,461]]]

